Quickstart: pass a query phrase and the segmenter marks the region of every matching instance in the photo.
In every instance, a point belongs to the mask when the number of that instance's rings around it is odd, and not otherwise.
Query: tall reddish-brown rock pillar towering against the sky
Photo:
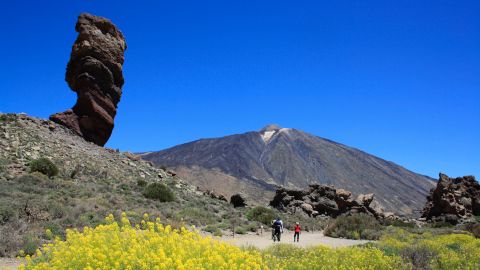
[[[124,83],[127,48],[122,32],[108,19],[83,13],[75,30],[65,80],[77,93],[72,109],[50,116],[85,140],[103,146],[110,138]]]

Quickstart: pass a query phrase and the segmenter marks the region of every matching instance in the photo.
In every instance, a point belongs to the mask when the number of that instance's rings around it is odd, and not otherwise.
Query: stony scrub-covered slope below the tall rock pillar
[[[38,158],[51,160],[58,175],[31,172]],[[169,187],[174,201],[146,198],[143,192],[151,183]],[[0,257],[20,249],[33,252],[51,238],[46,229],[62,236],[65,228],[94,226],[122,211],[134,221],[148,212],[174,226],[228,228],[230,217],[248,224],[227,202],[204,196],[131,153],[87,142],[52,121],[0,114]]]

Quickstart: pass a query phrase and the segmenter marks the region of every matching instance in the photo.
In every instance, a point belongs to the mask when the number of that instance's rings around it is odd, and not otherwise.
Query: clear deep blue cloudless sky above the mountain
[[[0,111],[48,118],[81,12],[128,50],[107,146],[161,150],[269,123],[437,177],[480,177],[480,1],[2,1]]]

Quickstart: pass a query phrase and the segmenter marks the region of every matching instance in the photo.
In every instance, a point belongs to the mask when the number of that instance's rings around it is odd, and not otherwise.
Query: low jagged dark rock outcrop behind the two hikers
[[[310,185],[308,190],[279,188],[270,205],[289,213],[305,213],[309,216],[327,215],[336,217],[342,214],[366,213],[383,218],[379,207],[373,207],[374,194],[360,194],[352,197],[350,191],[333,186]]]

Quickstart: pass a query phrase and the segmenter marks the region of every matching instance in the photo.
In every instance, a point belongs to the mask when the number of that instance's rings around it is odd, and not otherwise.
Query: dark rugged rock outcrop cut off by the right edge
[[[449,178],[440,173],[437,187],[430,191],[422,217],[457,224],[480,215],[480,184],[474,176]]]

